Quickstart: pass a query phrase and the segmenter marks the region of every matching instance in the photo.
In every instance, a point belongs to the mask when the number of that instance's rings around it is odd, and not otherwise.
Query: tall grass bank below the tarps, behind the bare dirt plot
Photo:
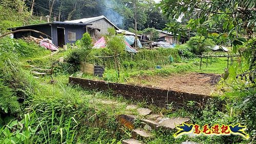
[[[114,68],[113,58],[97,58],[94,56],[110,56],[111,51],[109,49],[93,49],[90,53],[87,62],[104,65],[107,68]],[[170,64],[169,56],[174,58],[175,62],[180,62],[181,57],[179,56],[178,49],[154,49],[147,50],[141,49],[136,54],[131,54],[128,52],[122,53],[119,57],[120,63],[123,64],[126,61],[133,62],[134,68],[141,68],[143,66],[145,69],[153,68],[156,65],[167,65]]]

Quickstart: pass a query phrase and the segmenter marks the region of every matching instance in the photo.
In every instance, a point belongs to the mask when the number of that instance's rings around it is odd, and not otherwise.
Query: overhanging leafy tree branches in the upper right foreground
[[[160,6],[163,13],[173,19],[181,15],[187,18],[185,26],[177,22],[168,24],[168,31],[187,35],[191,30],[204,36],[217,33],[223,41],[229,40],[233,52],[239,51],[244,55],[248,60],[248,70],[255,73],[255,4],[255,0],[163,0]]]

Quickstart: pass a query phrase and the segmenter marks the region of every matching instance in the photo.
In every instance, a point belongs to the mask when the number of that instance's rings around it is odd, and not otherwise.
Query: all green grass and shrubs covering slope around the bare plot
[[[9,27],[37,23],[36,19],[29,15],[23,1],[0,2],[1,34],[7,32]],[[196,55],[212,54],[207,46],[216,43],[212,42],[212,39],[202,41],[202,35],[191,38],[187,44],[179,45],[175,49],[142,49],[132,56],[124,49],[119,49],[118,46],[122,42],[119,35],[109,35],[108,38],[107,43],[113,47],[95,50],[92,49],[89,34],[85,33],[84,37],[76,43],[75,49],[69,46],[67,51],[61,49],[53,56],[49,55],[49,50],[34,43],[27,43],[23,39],[11,39],[8,36],[1,38],[0,143],[120,144],[123,139],[130,138],[131,133],[116,121],[116,116],[138,115],[136,111],[126,110],[129,104],[150,108],[154,113],[167,117],[189,117],[192,124],[200,126],[240,123],[247,126],[246,133],[250,136],[249,139],[245,139],[239,135],[196,137],[184,135],[174,139],[173,134],[176,130],[153,130],[151,132],[155,137],[143,140],[144,143],[181,143],[183,141],[255,143],[256,90],[253,83],[255,77],[246,78],[245,73],[242,78],[241,76],[237,78],[237,75],[247,72],[248,69],[255,70],[254,65],[250,65],[255,62],[255,59],[251,58],[251,53],[242,55],[238,63],[230,66],[224,73],[222,68],[226,66],[224,58],[213,59],[211,67],[206,67],[204,60],[203,69],[199,69],[200,58]],[[255,39],[248,40],[248,42],[241,42],[240,47],[253,47],[254,43]],[[120,54],[120,57],[115,57],[116,59],[95,57],[115,54]],[[58,62],[60,57],[64,57],[65,63]],[[112,91],[90,91],[68,84],[68,77],[71,74],[77,74],[80,63],[84,61],[105,65],[104,80],[125,83],[129,82],[131,77],[143,75],[165,77],[191,71],[224,74],[216,86],[216,93],[204,107],[199,106],[195,101],[189,101],[183,108],[175,109],[171,103],[165,109],[148,105],[143,101],[126,100],[120,95],[113,95]],[[31,65],[46,69],[51,69],[53,66],[53,74],[36,78],[31,74],[34,70]],[[157,66],[162,68],[157,69]],[[85,77],[100,79],[92,75]],[[110,100],[115,101],[116,105],[101,102]],[[139,119],[134,125],[139,127],[142,123]]]

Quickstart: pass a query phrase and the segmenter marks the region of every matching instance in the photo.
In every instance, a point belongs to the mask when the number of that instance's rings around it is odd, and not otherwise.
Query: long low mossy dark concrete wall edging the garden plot
[[[197,104],[203,106],[207,99],[211,98],[207,95],[192,94],[185,92],[168,91],[158,88],[149,88],[141,86],[132,86],[119,83],[109,83],[107,81],[97,81],[85,78],[69,77],[69,83],[80,85],[83,88],[91,90],[113,90],[115,94],[121,94],[127,99],[135,101],[147,101],[158,107],[166,108],[168,104],[173,102],[173,106],[181,107],[187,105],[187,101],[196,101]]]

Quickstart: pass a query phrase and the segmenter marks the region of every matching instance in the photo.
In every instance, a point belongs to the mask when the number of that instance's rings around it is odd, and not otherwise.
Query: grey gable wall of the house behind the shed
[[[94,28],[101,29],[100,32],[95,33],[95,40],[99,40],[104,34],[108,34],[108,28],[114,27],[111,23],[109,23],[105,18],[96,20],[94,22],[91,22],[89,24],[92,24]]]

